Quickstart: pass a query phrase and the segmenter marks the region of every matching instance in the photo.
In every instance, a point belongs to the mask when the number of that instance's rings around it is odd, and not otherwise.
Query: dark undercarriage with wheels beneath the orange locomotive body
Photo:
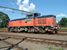
[[[25,27],[9,27],[10,32],[39,32],[57,34],[57,28],[51,26],[25,26]]]

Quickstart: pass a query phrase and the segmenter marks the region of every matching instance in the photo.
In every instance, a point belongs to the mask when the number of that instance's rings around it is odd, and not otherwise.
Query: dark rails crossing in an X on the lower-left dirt
[[[5,46],[5,47],[0,47],[0,49],[4,49],[4,48],[7,48],[6,50],[11,50],[11,49],[13,49],[13,48],[17,48],[18,50],[20,49],[20,50],[26,50],[26,49],[23,49],[23,48],[21,48],[21,47],[19,47],[18,45],[21,43],[21,42],[23,42],[26,38],[22,38],[19,42],[17,42],[16,44],[12,44],[12,43],[10,43],[10,42],[8,42],[8,41],[5,41],[5,40],[7,40],[7,39],[11,39],[12,37],[5,37],[5,38],[2,38],[2,39],[0,39],[0,41],[3,41],[3,42],[5,42],[6,44],[9,44],[10,46]],[[13,39],[13,38],[12,38]],[[15,39],[15,38],[14,38]]]

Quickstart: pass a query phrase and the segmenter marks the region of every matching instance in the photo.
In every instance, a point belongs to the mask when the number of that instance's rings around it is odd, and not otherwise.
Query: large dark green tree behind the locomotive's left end
[[[7,14],[0,12],[0,28],[5,28],[8,26],[9,17]]]

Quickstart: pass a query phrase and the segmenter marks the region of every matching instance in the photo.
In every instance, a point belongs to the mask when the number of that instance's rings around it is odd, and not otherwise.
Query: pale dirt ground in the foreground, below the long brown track
[[[19,42],[20,40],[16,40],[16,39],[7,39],[5,40],[11,44],[16,44],[17,42]],[[0,48],[2,47],[8,47],[10,46],[10,44],[7,44],[3,41],[0,41]],[[43,44],[43,43],[36,43],[36,42],[30,42],[30,41],[23,41],[20,44],[18,44],[18,47],[23,48],[23,49],[28,49],[28,50],[67,50],[67,48],[64,48],[62,46],[55,46],[55,45],[51,45],[51,44]],[[22,50],[18,47],[14,47],[11,50]],[[2,48],[0,50],[6,50],[8,48]]]

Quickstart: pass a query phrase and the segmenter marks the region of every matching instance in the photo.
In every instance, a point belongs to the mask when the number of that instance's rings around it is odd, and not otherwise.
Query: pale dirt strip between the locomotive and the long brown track
[[[26,36],[26,37],[36,37],[36,38],[47,38],[47,39],[56,39],[56,40],[67,40],[67,35],[49,35],[49,34],[26,34],[26,33],[6,33],[0,32],[0,35],[17,35],[17,36]]]

